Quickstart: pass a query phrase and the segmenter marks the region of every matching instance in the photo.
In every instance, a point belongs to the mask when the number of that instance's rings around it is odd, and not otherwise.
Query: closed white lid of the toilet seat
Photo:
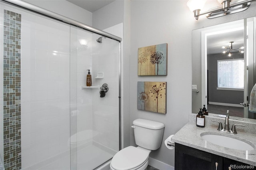
[[[111,166],[115,170],[130,170],[142,165],[149,154],[150,150],[128,146],[114,155]]]

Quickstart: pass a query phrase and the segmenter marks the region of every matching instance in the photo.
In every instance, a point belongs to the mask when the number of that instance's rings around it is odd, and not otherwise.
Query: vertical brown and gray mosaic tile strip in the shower
[[[21,169],[21,14],[4,10],[4,167]]]

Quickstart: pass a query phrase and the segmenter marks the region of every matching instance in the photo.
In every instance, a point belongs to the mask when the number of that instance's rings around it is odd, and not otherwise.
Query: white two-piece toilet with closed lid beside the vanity
[[[146,119],[133,121],[137,147],[128,146],[117,152],[111,160],[110,170],[145,170],[151,150],[160,148],[164,124]]]

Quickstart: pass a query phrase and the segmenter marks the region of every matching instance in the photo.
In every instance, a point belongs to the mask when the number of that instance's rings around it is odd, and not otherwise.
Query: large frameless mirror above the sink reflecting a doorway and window
[[[247,18],[192,30],[192,113],[205,105],[209,113],[229,110],[230,116],[256,119],[248,111],[255,83],[254,28],[254,18]]]

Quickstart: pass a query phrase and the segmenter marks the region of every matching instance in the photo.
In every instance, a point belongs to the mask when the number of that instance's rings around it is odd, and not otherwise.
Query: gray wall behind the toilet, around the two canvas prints
[[[162,145],[150,157],[171,166],[174,166],[174,150],[167,149],[164,140],[182,128],[191,113],[191,30],[195,20],[186,3],[131,1],[130,124],[138,118],[164,123]],[[168,43],[168,75],[138,76],[138,48],[161,43]],[[166,114],[137,109],[138,81],[167,82]],[[136,146],[133,129],[130,130],[130,143]]]

